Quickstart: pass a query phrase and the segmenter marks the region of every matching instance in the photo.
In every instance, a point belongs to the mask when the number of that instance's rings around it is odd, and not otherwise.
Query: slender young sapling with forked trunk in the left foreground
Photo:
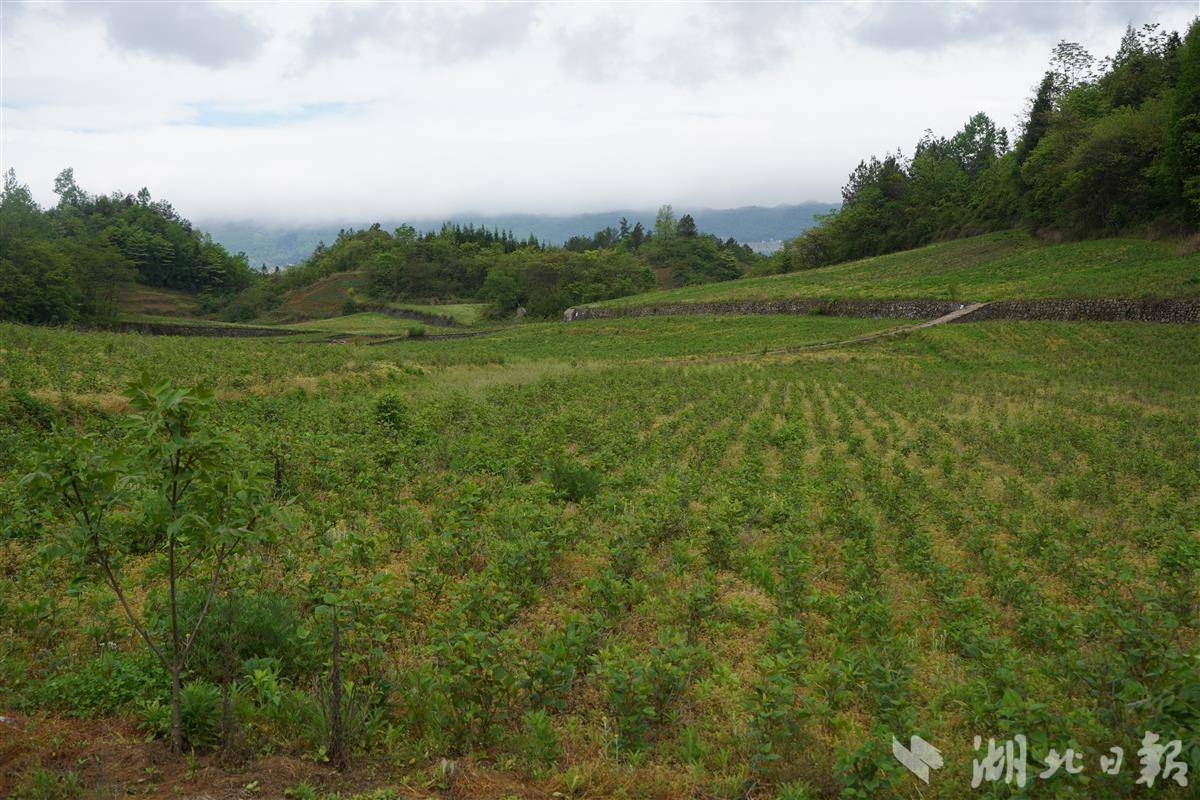
[[[70,524],[52,552],[79,569],[98,569],[130,625],[170,678],[172,748],[184,746],[180,688],[187,657],[208,618],[230,558],[265,539],[270,483],[247,455],[208,423],[211,393],[142,380],[128,392],[125,437],[59,432],[22,483],[55,501]],[[166,640],[151,636],[128,601],[122,561],[150,535],[150,553],[167,578]],[[192,628],[179,622],[181,584],[193,575],[204,601]]]

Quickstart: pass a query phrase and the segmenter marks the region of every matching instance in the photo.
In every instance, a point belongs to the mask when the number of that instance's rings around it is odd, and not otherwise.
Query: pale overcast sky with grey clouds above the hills
[[[0,162],[197,219],[833,200],[1176,2],[13,2]]]

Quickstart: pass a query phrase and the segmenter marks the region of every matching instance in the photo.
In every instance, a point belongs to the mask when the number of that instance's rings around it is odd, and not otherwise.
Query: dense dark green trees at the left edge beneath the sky
[[[116,313],[121,285],[204,293],[217,307],[247,288],[241,253],[197,230],[170,203],[137,194],[89,194],[64,169],[56,205],[41,209],[10,169],[0,194],[0,319],[76,323]]]

